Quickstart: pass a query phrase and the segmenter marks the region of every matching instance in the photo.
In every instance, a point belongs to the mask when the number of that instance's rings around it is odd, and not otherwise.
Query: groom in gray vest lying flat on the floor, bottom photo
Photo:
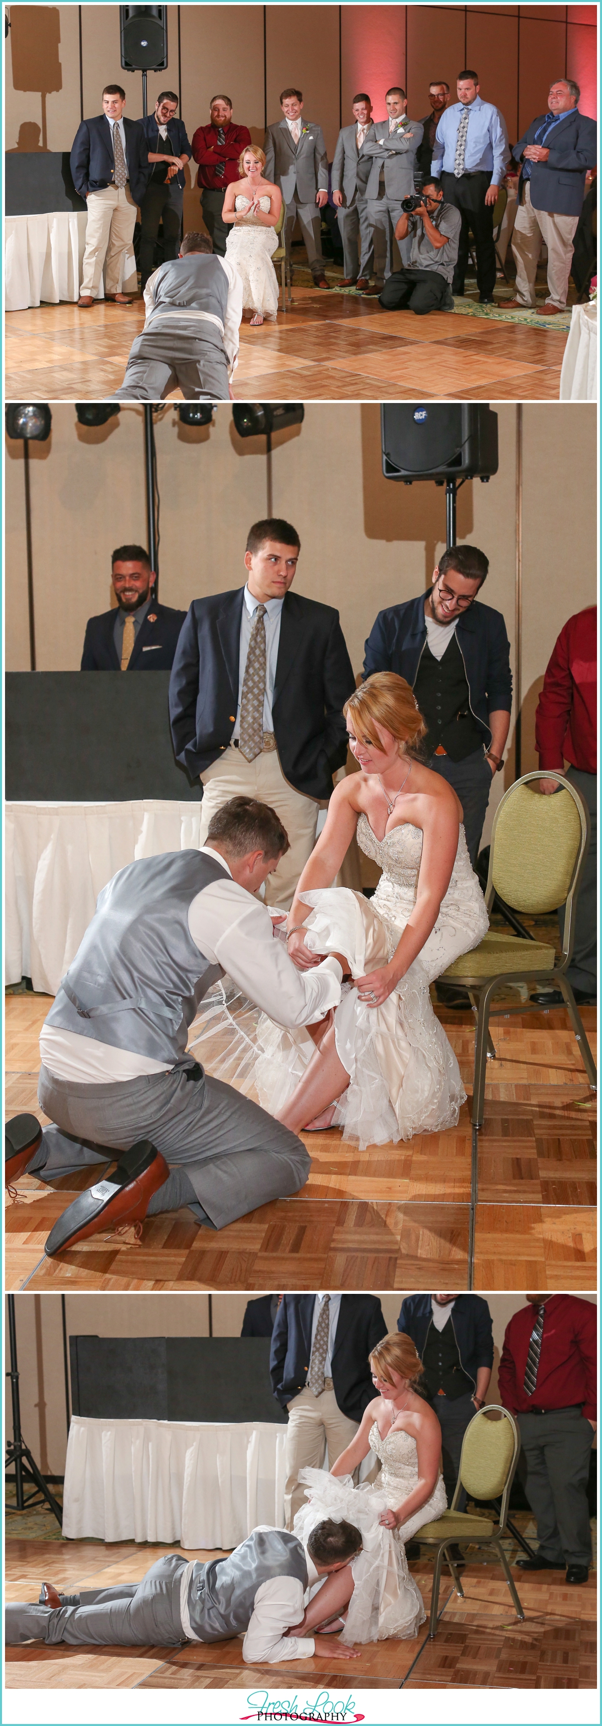
[[[245,1633],[243,1660],[357,1659],[336,1636],[288,1636],[326,1576],[362,1550],[350,1522],[317,1522],[307,1546],[279,1528],[255,1528],[228,1559],[191,1564],[179,1552],[159,1559],[141,1583],[59,1595],[41,1584],[40,1603],[7,1605],[7,1643],[69,1641],[174,1647],[228,1641]]]

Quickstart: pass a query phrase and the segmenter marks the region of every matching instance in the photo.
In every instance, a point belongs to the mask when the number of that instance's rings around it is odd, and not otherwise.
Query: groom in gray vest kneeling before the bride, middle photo
[[[338,960],[297,970],[254,898],[285,851],[274,809],[231,797],[198,851],[128,863],[98,894],[40,1036],[38,1101],[55,1125],[31,1155],[34,1117],[9,1122],[7,1174],[55,1181],[124,1155],[69,1205],[48,1255],[183,1205],[223,1229],[307,1181],[297,1134],[186,1053],[198,1005],[226,972],[285,1027],[338,1006]]]

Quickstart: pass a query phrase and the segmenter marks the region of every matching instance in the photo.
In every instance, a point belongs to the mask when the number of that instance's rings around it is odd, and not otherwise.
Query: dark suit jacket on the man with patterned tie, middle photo
[[[238,708],[243,589],[193,599],[169,683],[176,759],[195,778],[228,747]],[[329,797],[347,759],[343,702],[355,678],[333,606],[288,592],[279,621],[273,725],[285,778]]]

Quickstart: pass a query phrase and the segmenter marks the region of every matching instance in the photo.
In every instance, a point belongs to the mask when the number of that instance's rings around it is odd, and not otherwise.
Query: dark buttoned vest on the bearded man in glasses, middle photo
[[[474,749],[483,747],[485,732],[471,713],[464,659],[455,635],[442,659],[435,659],[428,642],[424,644],[414,696],[428,725],[424,739],[428,754],[443,744],[450,761],[464,761]]]

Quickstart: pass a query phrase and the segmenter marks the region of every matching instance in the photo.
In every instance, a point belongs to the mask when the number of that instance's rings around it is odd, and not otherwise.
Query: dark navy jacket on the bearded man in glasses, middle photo
[[[476,601],[462,611],[455,640],[461,649],[469,687],[471,709],[492,742],[490,713],[512,711],[511,644],[500,611]],[[424,594],[404,606],[379,611],[366,642],[364,678],[373,671],[397,671],[414,689],[426,642]]]

